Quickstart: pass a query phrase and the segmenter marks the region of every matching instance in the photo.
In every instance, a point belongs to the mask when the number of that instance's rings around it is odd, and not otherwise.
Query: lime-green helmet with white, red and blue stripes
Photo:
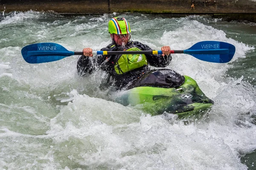
[[[108,22],[108,32],[110,34],[130,34],[130,24],[123,17],[114,17]]]

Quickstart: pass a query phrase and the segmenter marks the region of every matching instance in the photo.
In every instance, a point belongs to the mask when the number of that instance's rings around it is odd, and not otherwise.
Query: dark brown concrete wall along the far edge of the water
[[[191,8],[192,3],[195,8]],[[256,0],[0,0],[0,11],[30,9],[69,14],[113,12],[212,14],[213,16],[222,14],[230,19],[234,17],[234,19],[256,22]]]

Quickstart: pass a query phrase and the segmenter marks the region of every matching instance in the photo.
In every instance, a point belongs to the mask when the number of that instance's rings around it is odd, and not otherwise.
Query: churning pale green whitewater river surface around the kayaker
[[[207,16],[123,14],[132,40],[184,50],[205,40],[236,47],[229,63],[173,54],[166,68],[192,77],[215,102],[202,119],[150,116],[113,102],[105,73],[76,73],[78,56],[41,64],[21,48],[55,42],[100,50],[119,14],[0,13],[1,170],[256,169],[256,24]],[[118,92],[117,94],[118,95]]]

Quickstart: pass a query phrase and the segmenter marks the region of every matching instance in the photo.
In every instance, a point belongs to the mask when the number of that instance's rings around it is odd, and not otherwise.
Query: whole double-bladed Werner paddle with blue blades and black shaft
[[[186,50],[171,50],[171,54],[189,54],[203,61],[224,63],[233,58],[235,51],[235,46],[227,42],[202,41]],[[72,55],[82,55],[83,52],[68,51],[59,44],[44,42],[23,47],[21,54],[26,62],[36,64],[57,61]],[[162,54],[162,51],[93,51],[93,55],[100,54]]]

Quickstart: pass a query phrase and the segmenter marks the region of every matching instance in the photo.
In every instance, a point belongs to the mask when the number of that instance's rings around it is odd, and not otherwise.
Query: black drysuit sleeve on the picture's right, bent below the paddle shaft
[[[134,42],[134,44],[143,51],[152,51],[152,49],[148,47],[148,45],[142,44],[140,42]],[[161,54],[145,54],[145,56],[147,57],[148,64],[154,67],[166,67],[172,61],[171,54],[169,54],[168,56],[162,56]]]

